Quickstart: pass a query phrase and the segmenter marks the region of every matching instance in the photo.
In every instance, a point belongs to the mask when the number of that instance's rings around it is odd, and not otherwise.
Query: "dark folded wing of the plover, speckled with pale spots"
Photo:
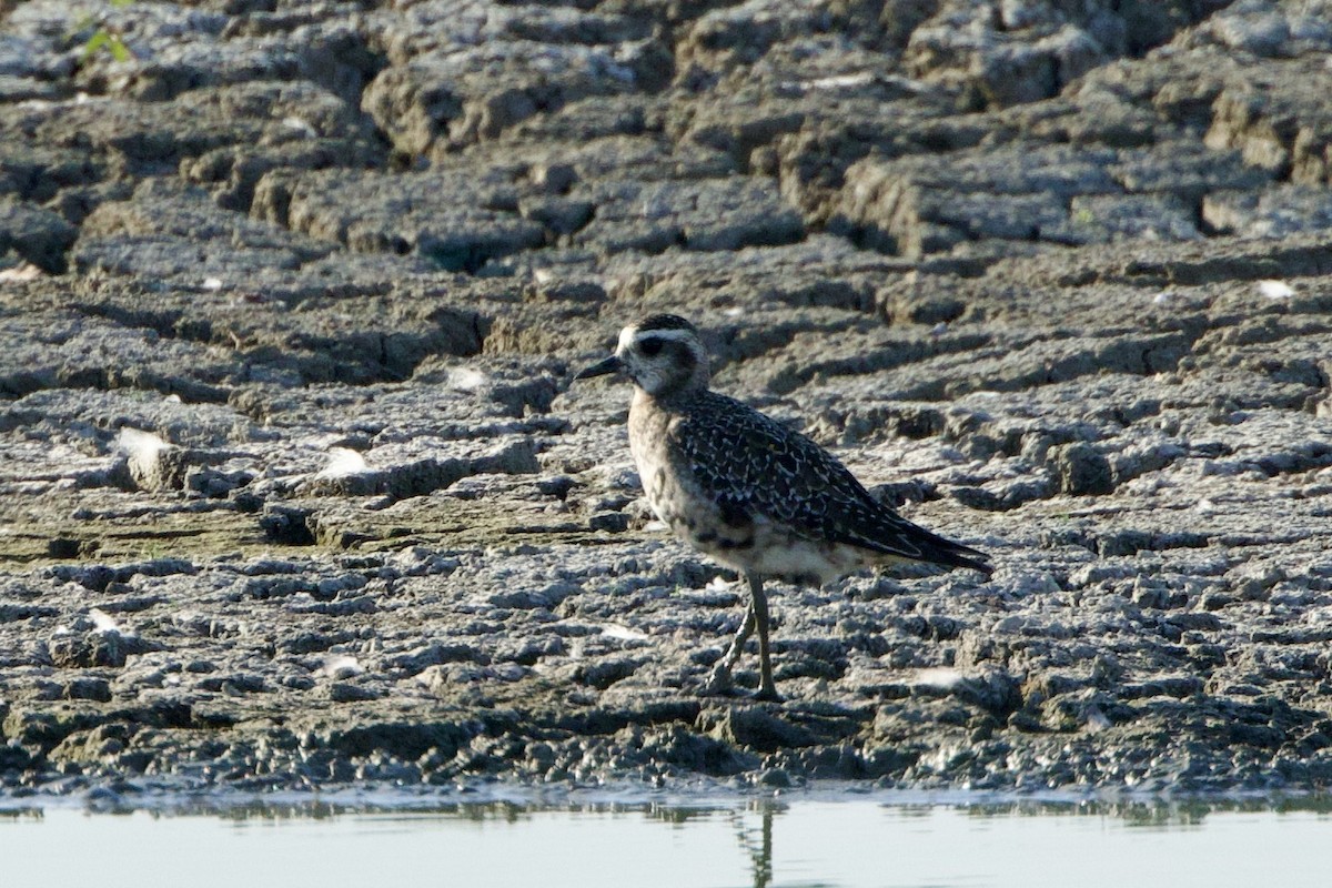
[[[702,393],[671,434],[723,513],[765,515],[811,539],[883,555],[991,571],[983,553],[902,518],[826,450],[739,401]]]

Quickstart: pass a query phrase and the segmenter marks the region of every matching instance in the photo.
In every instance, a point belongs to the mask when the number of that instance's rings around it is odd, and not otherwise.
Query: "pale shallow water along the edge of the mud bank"
[[[1327,800],[342,803],[0,816],[5,885],[1327,885]]]

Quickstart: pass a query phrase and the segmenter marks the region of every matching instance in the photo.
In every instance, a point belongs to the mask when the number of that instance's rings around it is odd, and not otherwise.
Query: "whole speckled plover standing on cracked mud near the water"
[[[915,560],[994,568],[984,553],[911,523],[876,501],[817,443],[709,389],[698,330],[674,314],[626,326],[605,361],[574,379],[618,373],[634,383],[629,449],[647,502],[682,539],[743,574],[749,610],[709,690],[727,691],[758,634],[758,699],[773,682],[765,578],[823,584],[872,564]]]

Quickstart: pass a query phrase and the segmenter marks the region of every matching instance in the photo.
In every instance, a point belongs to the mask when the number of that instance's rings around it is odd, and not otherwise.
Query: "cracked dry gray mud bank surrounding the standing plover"
[[[0,7],[4,792],[1332,783],[1332,3]],[[657,310],[994,578],[701,696]]]

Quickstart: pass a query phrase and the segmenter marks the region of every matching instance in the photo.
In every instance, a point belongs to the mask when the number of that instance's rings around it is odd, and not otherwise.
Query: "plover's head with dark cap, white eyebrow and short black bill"
[[[706,389],[707,350],[693,324],[674,314],[654,314],[619,332],[615,353],[574,379],[618,373],[655,397]]]

